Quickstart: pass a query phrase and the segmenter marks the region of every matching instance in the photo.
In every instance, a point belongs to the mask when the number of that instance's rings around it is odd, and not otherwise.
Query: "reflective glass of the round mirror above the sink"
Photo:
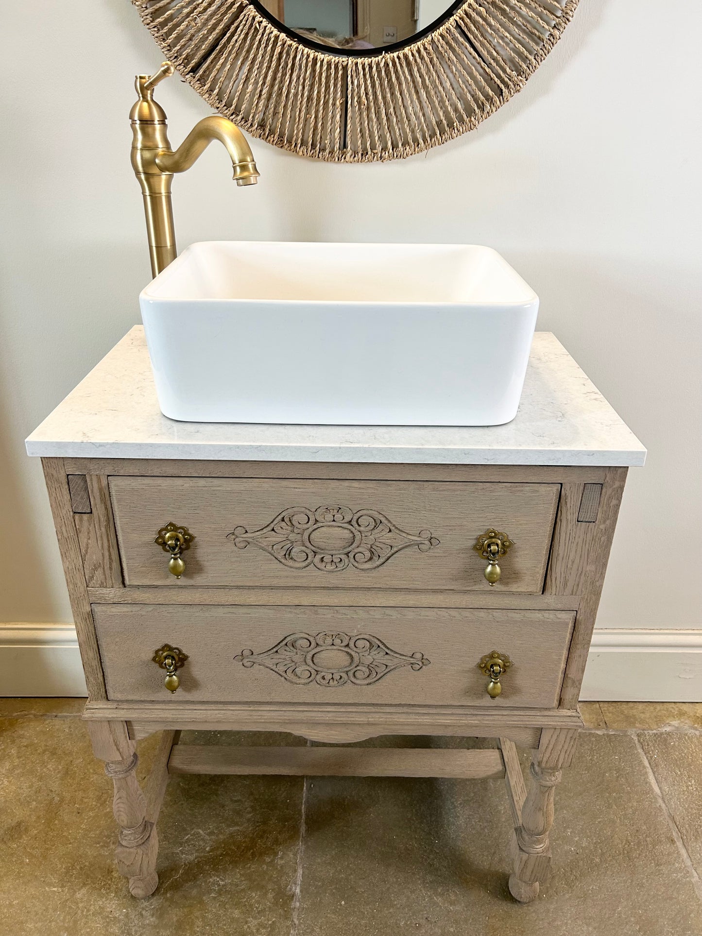
[[[269,15],[316,46],[363,53],[407,45],[461,0],[258,0]]]

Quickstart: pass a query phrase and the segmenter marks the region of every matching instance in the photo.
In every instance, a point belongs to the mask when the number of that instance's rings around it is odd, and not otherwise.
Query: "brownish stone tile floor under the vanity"
[[[0,699],[5,936],[702,934],[702,705],[581,706],[588,728],[556,793],[553,874],[527,906],[506,889],[503,782],[401,778],[174,777],[161,884],[132,899],[81,708]],[[142,776],[154,741],[139,745]]]

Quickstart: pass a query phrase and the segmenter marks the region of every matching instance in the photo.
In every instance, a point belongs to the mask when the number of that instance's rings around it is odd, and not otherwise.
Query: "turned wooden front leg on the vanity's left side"
[[[149,897],[158,886],[158,836],[146,818],[146,797],[135,773],[136,742],[129,739],[124,722],[89,722],[88,731],[95,756],[105,761],[105,773],[114,785],[112,809],[120,826],[117,868],[129,879],[134,897]]]

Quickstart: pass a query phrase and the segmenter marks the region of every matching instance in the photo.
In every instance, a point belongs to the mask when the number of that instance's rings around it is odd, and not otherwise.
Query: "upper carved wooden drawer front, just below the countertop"
[[[509,537],[496,591],[541,592],[559,491],[557,484],[110,478],[125,584],[176,588],[487,592],[486,560],[474,546],[496,530]],[[191,537],[175,561],[178,543],[164,541],[168,523]]]

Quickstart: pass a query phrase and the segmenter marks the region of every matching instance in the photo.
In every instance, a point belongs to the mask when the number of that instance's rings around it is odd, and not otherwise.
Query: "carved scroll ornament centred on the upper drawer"
[[[376,569],[402,549],[416,546],[428,552],[439,544],[430,530],[405,533],[377,510],[354,512],[341,505],[288,507],[260,530],[238,526],[227,539],[240,549],[250,544],[263,549],[289,569],[314,565],[323,572],[339,572],[349,565]]]

